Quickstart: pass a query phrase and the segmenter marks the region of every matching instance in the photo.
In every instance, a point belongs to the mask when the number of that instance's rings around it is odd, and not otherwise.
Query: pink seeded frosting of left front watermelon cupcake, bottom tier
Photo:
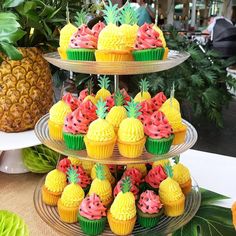
[[[82,201],[79,213],[89,220],[99,220],[103,216],[106,216],[106,210],[99,196],[93,193]]]

